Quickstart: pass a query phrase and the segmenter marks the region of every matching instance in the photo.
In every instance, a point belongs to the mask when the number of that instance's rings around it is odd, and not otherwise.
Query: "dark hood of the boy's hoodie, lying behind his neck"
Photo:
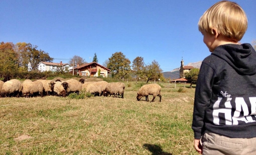
[[[225,60],[240,74],[256,74],[256,52],[250,44],[220,45],[212,54]]]

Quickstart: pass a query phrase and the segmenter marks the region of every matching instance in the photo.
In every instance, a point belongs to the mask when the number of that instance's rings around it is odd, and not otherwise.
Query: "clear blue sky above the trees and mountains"
[[[256,0],[234,0],[246,12],[242,43],[256,39]],[[78,55],[102,64],[121,51],[154,59],[163,71],[210,54],[198,20],[217,0],[1,0],[0,41],[37,45],[52,58]],[[91,57],[91,60],[90,60]],[[54,59],[54,62],[60,62]],[[67,63],[68,60],[62,60]]]

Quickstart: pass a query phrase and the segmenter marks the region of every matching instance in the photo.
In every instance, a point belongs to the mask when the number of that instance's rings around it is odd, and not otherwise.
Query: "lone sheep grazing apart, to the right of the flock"
[[[140,99],[143,96],[145,96],[146,101],[149,101],[148,96],[153,95],[153,99],[151,102],[154,101],[156,96],[159,96],[159,98],[160,98],[159,102],[161,102],[162,96],[160,93],[161,93],[161,86],[159,86],[158,84],[143,85],[137,92],[137,100],[140,101]]]

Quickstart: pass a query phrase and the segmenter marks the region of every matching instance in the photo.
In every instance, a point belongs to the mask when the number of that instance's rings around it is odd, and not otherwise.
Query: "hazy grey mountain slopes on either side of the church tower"
[[[188,63],[185,66],[193,66],[194,68],[200,68],[201,64],[202,64],[202,61],[199,61],[199,62]],[[171,80],[178,79],[180,78],[180,67],[175,68],[174,70],[171,70],[171,71],[163,72],[163,75],[165,78],[170,78]]]

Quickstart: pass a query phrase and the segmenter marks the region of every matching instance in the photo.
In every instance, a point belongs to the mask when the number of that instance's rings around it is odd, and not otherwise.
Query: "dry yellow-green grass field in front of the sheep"
[[[134,83],[126,84],[124,99],[0,98],[0,154],[197,154],[194,88],[162,85],[161,103],[138,102]]]

